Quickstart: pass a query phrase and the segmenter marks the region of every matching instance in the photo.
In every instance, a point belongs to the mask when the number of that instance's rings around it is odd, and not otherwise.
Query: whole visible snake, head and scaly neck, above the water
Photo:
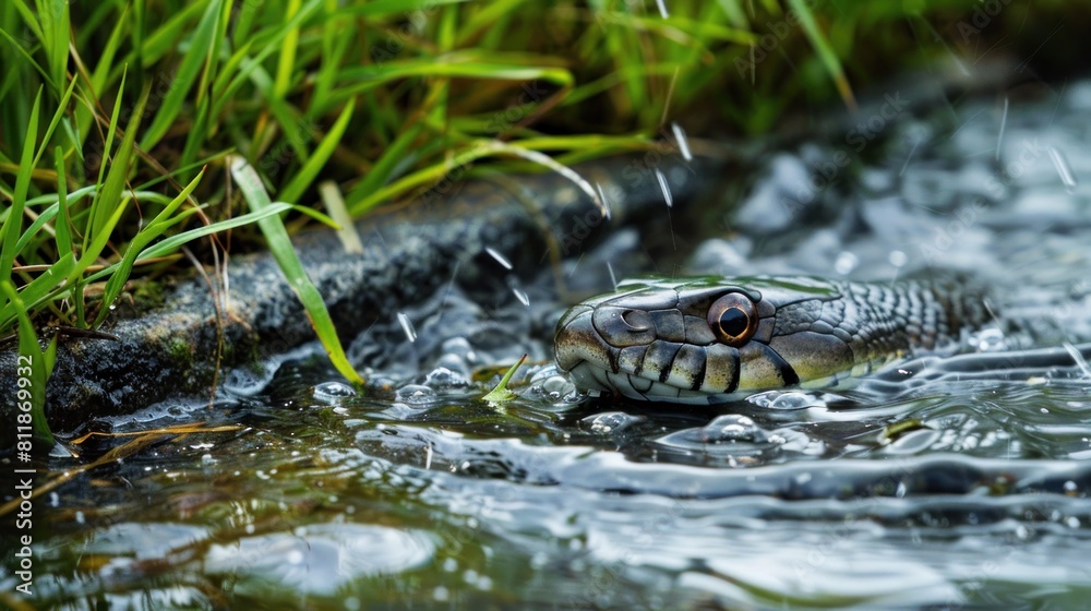
[[[635,280],[570,309],[554,348],[579,390],[709,404],[835,386],[911,354],[955,349],[991,318],[984,295],[955,280]]]

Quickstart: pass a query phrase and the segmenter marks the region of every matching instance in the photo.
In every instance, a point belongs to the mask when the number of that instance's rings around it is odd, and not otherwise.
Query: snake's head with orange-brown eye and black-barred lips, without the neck
[[[793,362],[808,378],[852,369],[843,338],[810,328],[839,297],[813,278],[628,283],[565,312],[556,362],[582,390],[721,403],[799,383]]]

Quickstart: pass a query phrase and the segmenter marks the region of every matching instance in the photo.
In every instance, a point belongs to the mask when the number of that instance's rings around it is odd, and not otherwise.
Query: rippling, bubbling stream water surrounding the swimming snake
[[[777,152],[723,217],[730,232],[698,244],[686,238],[695,227],[674,218],[679,250],[693,253],[685,268],[971,271],[1005,287],[1005,313],[1050,323],[1078,345],[1091,337],[1091,128],[1080,113],[1089,105],[1083,84],[1031,104],[1012,97],[1003,115],[993,100],[970,100],[952,124],[936,119],[947,109],[902,117],[859,168],[825,185],[808,179],[803,192],[798,178],[820,178],[812,168],[846,141]],[[660,263],[642,263],[640,252],[639,239],[620,232],[562,275],[610,288],[615,265],[621,279]],[[261,374],[233,372],[212,405],[189,398],[93,422],[111,433],[189,428],[130,446],[141,438],[95,436],[76,446],[79,459],[53,459],[39,487],[123,454],[36,500],[35,600],[63,609],[1087,604],[1091,381],[1062,340],[1028,346],[990,330],[968,347],[1006,373],[933,358],[856,387],[696,409],[574,394],[549,364],[562,309],[549,272],[495,296],[452,284],[351,343],[365,392],[311,347]],[[524,352],[530,361],[513,383],[520,397],[483,402]],[[11,591],[14,577],[0,573],[0,583]]]

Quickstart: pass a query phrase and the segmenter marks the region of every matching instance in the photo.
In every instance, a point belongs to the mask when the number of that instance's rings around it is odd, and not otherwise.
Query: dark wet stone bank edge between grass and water
[[[487,247],[507,257],[517,273],[529,273],[549,265],[550,248],[562,256],[573,254],[608,227],[647,219],[664,205],[655,169],[667,178],[674,204],[684,205],[723,167],[711,157],[687,164],[676,152],[577,166],[580,176],[601,184],[611,212],[606,221],[586,193],[555,173],[519,178],[513,182],[519,192],[500,182],[471,182],[361,221],[362,253],[347,253],[329,231],[299,237],[298,251],[338,333],[350,338],[433,292],[456,266],[464,283],[483,288],[499,283],[502,274]],[[200,275],[190,274],[170,280],[154,310],[119,306],[103,328],[118,342],[62,338],[47,390],[53,430],[129,414],[172,394],[207,393],[217,367],[257,363],[315,338],[272,256],[233,256],[228,274],[218,328],[213,291]],[[15,396],[14,344],[0,352],[0,396],[10,398],[3,404],[5,421]],[[4,431],[0,446],[11,443]]]

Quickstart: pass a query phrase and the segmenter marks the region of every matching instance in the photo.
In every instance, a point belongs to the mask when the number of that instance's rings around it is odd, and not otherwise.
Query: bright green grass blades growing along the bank
[[[235,252],[274,250],[355,380],[286,240],[286,223],[328,221],[323,200],[358,217],[459,167],[648,148],[681,119],[768,131],[806,104],[851,105],[894,62],[940,61],[951,45],[922,33],[959,47],[979,5],[664,3],[667,17],[650,0],[5,0],[0,283],[19,299],[0,295],[0,337],[24,319],[97,327],[133,276],[183,269],[187,243],[218,261],[215,235],[235,229]],[[1027,14],[1012,3],[982,40]]]

